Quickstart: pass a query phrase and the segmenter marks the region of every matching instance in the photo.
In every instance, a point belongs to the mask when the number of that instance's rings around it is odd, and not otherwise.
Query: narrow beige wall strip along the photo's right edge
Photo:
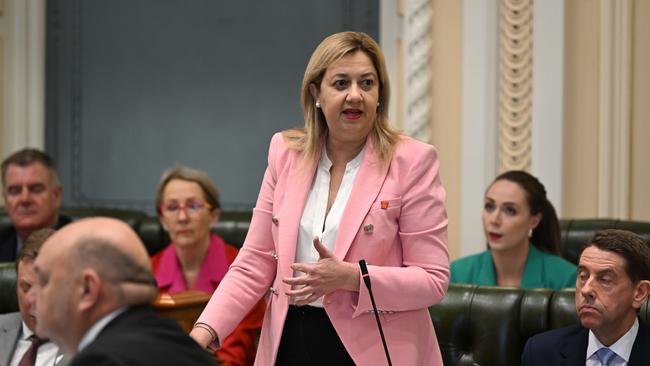
[[[650,1],[634,6],[630,217],[650,221]]]

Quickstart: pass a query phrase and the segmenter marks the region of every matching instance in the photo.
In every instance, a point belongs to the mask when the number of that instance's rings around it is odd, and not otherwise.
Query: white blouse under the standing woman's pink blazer
[[[334,251],[336,234],[339,230],[339,222],[345,210],[345,206],[350,198],[354,179],[359,173],[359,167],[363,161],[366,148],[361,149],[357,156],[350,160],[345,166],[345,173],[341,180],[338,193],[329,213],[327,213],[327,201],[330,189],[330,168],[332,162],[327,156],[326,149],[323,148],[318,167],[316,168],[316,177],[309,190],[307,203],[300,219],[300,231],[298,234],[298,245],[296,247],[297,263],[316,263],[318,262],[318,252],[314,248],[314,237],[318,236],[321,243],[329,251]],[[327,213],[327,218],[325,214]],[[294,276],[300,276],[304,273],[294,271]],[[323,298],[310,303],[312,306],[323,307]]]

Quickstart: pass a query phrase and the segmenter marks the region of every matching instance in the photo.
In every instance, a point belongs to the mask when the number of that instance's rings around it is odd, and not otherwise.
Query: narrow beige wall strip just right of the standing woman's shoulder
[[[433,2],[431,142],[438,148],[440,175],[447,190],[449,254],[460,251],[460,175],[462,136],[462,1]]]

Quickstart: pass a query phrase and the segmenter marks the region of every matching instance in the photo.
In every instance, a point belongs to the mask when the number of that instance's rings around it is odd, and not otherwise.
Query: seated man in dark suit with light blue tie
[[[624,230],[596,233],[580,255],[580,324],[531,337],[522,365],[650,364],[650,326],[638,311],[650,294],[650,248]]]

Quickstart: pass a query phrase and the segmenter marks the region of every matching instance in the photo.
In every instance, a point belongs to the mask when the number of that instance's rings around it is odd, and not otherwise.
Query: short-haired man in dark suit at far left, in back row
[[[61,183],[43,151],[23,149],[2,162],[2,197],[11,226],[0,229],[0,262],[13,262],[29,234],[70,222],[59,216]]]

